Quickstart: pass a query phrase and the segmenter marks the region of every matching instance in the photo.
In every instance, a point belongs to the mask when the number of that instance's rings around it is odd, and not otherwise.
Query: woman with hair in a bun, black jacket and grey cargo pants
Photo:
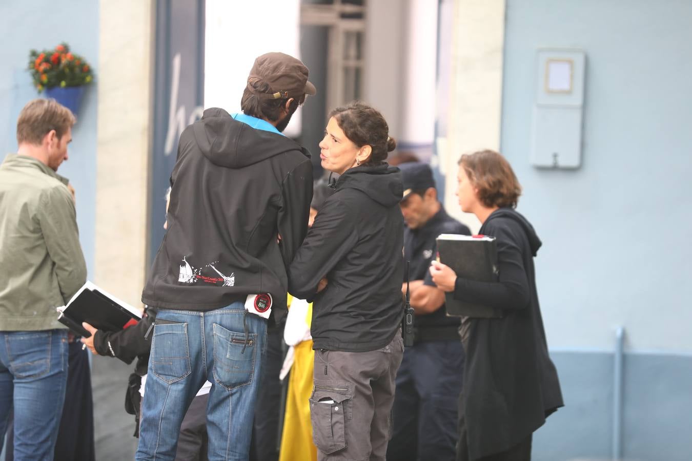
[[[289,268],[289,292],[314,300],[320,460],[384,460],[387,451],[403,355],[403,190],[399,169],[384,162],[396,145],[388,131],[365,104],[332,111],[320,158],[340,177]]]

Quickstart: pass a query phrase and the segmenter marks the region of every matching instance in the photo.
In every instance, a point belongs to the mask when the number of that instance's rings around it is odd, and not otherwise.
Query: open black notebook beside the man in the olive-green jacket
[[[98,286],[87,281],[66,306],[57,308],[57,320],[68,326],[75,334],[90,337],[82,322],[98,330],[118,331],[127,328],[142,318],[135,308],[120,301]]]

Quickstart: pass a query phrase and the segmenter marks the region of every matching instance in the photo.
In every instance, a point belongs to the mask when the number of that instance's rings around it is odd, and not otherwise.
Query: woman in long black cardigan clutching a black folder
[[[477,216],[480,234],[496,238],[499,280],[463,279],[437,261],[432,280],[456,299],[502,310],[499,319],[462,319],[466,370],[457,460],[530,460],[532,434],[563,406],[536,292],[533,258],[541,242],[514,209],[521,187],[499,153],[462,156],[457,182],[462,211]]]

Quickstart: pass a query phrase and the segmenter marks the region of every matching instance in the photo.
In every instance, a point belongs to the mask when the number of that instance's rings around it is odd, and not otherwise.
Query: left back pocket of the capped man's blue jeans
[[[154,376],[167,384],[180,381],[192,373],[187,322],[158,319],[154,322],[152,370]]]

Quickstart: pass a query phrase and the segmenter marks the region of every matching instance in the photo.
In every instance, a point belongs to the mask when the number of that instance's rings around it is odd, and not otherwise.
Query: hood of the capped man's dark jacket
[[[204,111],[192,124],[197,147],[213,164],[240,169],[287,151],[310,154],[298,142],[284,135],[254,129],[218,107]]]

